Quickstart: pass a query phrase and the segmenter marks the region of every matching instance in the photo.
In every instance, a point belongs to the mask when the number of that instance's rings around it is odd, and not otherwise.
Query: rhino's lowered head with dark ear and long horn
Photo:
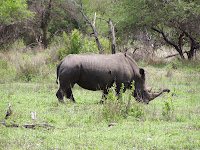
[[[148,104],[150,101],[160,96],[162,93],[170,92],[169,89],[164,89],[157,93],[151,93],[152,88],[147,88],[145,85],[144,69],[140,68],[139,73],[140,73],[140,76],[136,77],[135,79],[135,90],[133,93],[133,96],[135,97],[136,101]]]

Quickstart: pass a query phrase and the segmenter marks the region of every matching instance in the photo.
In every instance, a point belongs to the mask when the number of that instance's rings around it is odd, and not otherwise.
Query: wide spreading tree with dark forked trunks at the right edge
[[[200,2],[197,0],[127,0],[120,1],[118,10],[123,21],[121,31],[138,28],[152,29],[160,34],[164,41],[173,46],[182,59],[185,59],[183,47],[188,59],[200,47]],[[126,16],[125,16],[126,15]],[[150,30],[149,30],[150,31]]]

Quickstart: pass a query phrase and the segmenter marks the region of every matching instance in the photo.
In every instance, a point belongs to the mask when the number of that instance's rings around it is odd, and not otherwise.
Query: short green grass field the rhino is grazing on
[[[58,103],[55,67],[49,80],[0,84],[0,121],[6,115],[8,102],[12,108],[12,115],[5,121],[8,127],[0,125],[0,149],[200,149],[199,64],[140,66],[147,72],[148,86],[155,91],[169,88],[171,93],[149,105],[131,98],[128,113],[118,115],[119,111],[113,109],[123,109],[130,99],[129,91],[120,99],[122,105],[116,106],[112,98],[101,105],[100,91],[75,86],[77,103]],[[110,123],[116,125],[108,127]],[[50,126],[23,127],[27,124]]]

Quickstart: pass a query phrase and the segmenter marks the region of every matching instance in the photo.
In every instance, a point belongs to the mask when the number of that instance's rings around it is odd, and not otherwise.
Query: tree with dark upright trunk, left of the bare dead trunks
[[[25,36],[34,39],[27,43],[36,42],[37,45],[42,44],[45,49],[58,32],[79,28],[82,25],[77,10],[65,0],[29,0],[29,9],[36,15],[28,22],[27,30],[31,32]]]

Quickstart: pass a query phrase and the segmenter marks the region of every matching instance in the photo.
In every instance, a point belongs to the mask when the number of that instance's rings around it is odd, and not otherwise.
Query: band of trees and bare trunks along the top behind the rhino
[[[141,45],[154,51],[168,45],[182,59],[193,59],[200,47],[198,0],[9,0],[0,7],[1,50],[16,40],[46,49],[74,29],[105,53],[111,53],[115,42],[117,51]]]

